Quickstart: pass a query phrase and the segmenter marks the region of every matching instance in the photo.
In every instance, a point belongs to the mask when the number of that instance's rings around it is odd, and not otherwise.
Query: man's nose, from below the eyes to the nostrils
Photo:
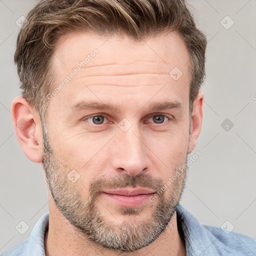
[[[118,130],[113,143],[111,162],[116,172],[133,176],[148,170],[147,147],[138,129]]]

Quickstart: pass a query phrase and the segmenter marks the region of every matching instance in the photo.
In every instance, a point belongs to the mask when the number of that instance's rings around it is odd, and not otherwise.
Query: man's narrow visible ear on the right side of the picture
[[[202,124],[202,107],[203,107],[203,94],[198,93],[196,99],[193,101],[193,111],[190,125],[190,136],[188,141],[188,153],[194,149],[195,142],[201,131]]]

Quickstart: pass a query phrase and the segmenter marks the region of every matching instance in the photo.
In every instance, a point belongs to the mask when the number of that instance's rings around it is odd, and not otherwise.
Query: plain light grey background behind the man
[[[24,240],[47,211],[40,164],[29,161],[14,134],[10,104],[20,94],[13,63],[19,27],[35,0],[0,0],[0,253]],[[208,39],[201,156],[188,172],[181,204],[202,224],[256,238],[256,1],[189,0]],[[234,24],[231,24],[231,19]],[[224,19],[223,19],[224,18]],[[222,21],[221,21],[222,20]],[[223,26],[223,25],[224,26]],[[234,125],[222,128],[228,118]],[[193,155],[193,153],[191,153]],[[15,226],[25,221],[20,234]],[[226,222],[228,221],[228,222]],[[228,235],[228,234],[227,234]]]

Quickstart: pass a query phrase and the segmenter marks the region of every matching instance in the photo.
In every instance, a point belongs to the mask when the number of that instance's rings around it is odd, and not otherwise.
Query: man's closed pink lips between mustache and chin
[[[156,191],[147,188],[105,189],[102,195],[122,207],[138,207],[149,201]]]

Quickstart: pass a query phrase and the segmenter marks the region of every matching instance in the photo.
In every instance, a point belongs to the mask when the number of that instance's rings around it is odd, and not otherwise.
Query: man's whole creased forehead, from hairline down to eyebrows
[[[188,63],[188,51],[176,31],[141,41],[126,35],[68,33],[59,38],[51,61],[55,85],[62,84],[54,100],[70,106],[88,99],[86,95],[100,95],[119,103],[137,102],[141,95],[148,99],[163,87],[158,96],[169,93],[175,100],[183,93],[188,101]]]

